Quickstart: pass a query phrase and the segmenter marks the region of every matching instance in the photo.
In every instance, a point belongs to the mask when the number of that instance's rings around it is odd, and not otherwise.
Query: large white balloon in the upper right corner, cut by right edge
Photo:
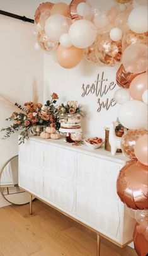
[[[146,6],[139,6],[132,9],[128,17],[128,26],[135,33],[147,32],[147,8]]]

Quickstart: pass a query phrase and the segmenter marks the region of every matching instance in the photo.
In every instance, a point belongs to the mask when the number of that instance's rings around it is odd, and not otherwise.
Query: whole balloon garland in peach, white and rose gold
[[[122,137],[122,151],[130,161],[117,179],[117,194],[134,209],[137,224],[135,250],[147,251],[148,160],[147,160],[147,0],[115,0],[108,11],[91,0],[42,3],[35,12],[35,49],[56,51],[57,62],[65,69],[83,59],[118,68],[120,86],[115,100],[120,104],[118,119],[128,131]],[[108,0],[110,3],[110,0]],[[101,7],[100,7],[101,6]]]

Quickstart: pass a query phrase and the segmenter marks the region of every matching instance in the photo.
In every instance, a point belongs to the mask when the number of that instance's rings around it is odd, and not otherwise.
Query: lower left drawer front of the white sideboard
[[[19,185],[35,194],[43,194],[43,171],[35,166],[19,162]]]

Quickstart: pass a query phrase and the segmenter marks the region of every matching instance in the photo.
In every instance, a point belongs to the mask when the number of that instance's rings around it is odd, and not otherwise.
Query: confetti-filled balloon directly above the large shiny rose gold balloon
[[[128,158],[135,159],[134,147],[139,137],[146,134],[146,130],[128,130],[122,137],[122,152],[128,156]]]

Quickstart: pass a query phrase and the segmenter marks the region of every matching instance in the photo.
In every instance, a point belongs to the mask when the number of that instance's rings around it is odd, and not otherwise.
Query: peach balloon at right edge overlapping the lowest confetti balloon
[[[144,136],[140,137],[135,143],[135,156],[137,160],[143,165],[148,165],[148,136],[144,134]]]

